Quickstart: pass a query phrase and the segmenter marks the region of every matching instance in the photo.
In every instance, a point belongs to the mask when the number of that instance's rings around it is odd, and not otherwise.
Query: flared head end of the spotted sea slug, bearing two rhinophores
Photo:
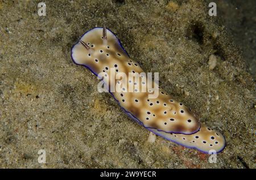
[[[77,65],[86,66],[98,74],[110,62],[112,64],[120,58],[129,58],[129,55],[112,31],[96,27],[82,35],[71,50],[71,57]]]

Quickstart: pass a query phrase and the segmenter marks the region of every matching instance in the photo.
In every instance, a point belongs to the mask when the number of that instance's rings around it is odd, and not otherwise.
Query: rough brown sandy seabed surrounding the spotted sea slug
[[[255,168],[252,55],[242,55],[225,14],[210,17],[205,1],[44,2],[46,16],[35,1],[0,1],[1,168]],[[236,7],[217,2],[225,5]],[[154,137],[72,63],[72,45],[102,25],[145,71],[160,72],[168,93],[224,134],[216,164]],[[39,149],[46,164],[38,163]]]

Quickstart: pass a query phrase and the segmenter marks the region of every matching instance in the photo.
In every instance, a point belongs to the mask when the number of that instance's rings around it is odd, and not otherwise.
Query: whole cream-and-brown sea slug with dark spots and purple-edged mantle
[[[104,79],[104,76],[110,76],[110,68],[127,76],[138,72],[139,88],[147,82],[141,75],[144,71],[139,63],[129,57],[118,38],[105,27],[84,33],[73,46],[71,57],[77,65],[89,68],[108,87],[113,85],[111,83],[120,83],[119,80],[110,82]],[[136,92],[136,89],[128,92],[124,88],[121,92],[110,93],[131,118],[156,135],[204,153],[218,153],[224,149],[225,138],[220,132],[200,123],[184,104],[168,95],[158,84],[153,82],[153,85],[159,90],[157,98],[148,98],[150,91]]]

